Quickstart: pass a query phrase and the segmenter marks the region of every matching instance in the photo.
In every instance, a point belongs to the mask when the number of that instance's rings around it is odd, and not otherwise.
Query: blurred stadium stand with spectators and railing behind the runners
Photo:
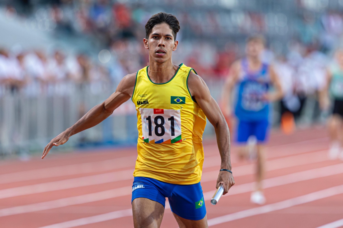
[[[173,62],[196,69],[216,100],[230,64],[244,55],[246,37],[259,33],[285,103],[296,99],[304,107],[295,110],[297,123],[325,119],[317,91],[341,45],[342,0],[0,0],[0,153],[42,149],[113,93],[123,76],[146,66],[144,25],[161,11],[180,21]],[[68,146],[137,142],[130,102]],[[273,109],[276,126],[280,104]],[[205,135],[212,134],[208,128]]]

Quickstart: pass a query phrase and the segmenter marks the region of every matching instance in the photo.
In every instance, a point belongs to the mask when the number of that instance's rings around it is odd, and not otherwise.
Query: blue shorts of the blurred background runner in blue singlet
[[[268,137],[268,120],[259,121],[239,121],[237,129],[237,142],[246,143],[249,136],[255,135],[258,143],[264,143]]]

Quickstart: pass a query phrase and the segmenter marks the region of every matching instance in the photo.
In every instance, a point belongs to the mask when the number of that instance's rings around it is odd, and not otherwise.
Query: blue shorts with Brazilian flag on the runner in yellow
[[[193,185],[176,185],[149,177],[134,177],[132,200],[147,198],[165,207],[168,198],[170,209],[181,218],[201,220],[206,215],[200,182]]]

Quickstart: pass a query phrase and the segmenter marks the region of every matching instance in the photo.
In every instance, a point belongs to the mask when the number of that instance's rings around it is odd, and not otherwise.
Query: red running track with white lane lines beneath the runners
[[[233,145],[236,185],[213,206],[220,156],[214,141],[205,142],[201,183],[209,226],[343,227],[343,162],[329,160],[328,147],[325,129],[274,132],[266,148],[267,203],[259,206],[249,201],[255,164],[238,161]],[[0,227],[133,227],[136,156],[127,148],[0,161]],[[161,227],[178,227],[168,203]]]

